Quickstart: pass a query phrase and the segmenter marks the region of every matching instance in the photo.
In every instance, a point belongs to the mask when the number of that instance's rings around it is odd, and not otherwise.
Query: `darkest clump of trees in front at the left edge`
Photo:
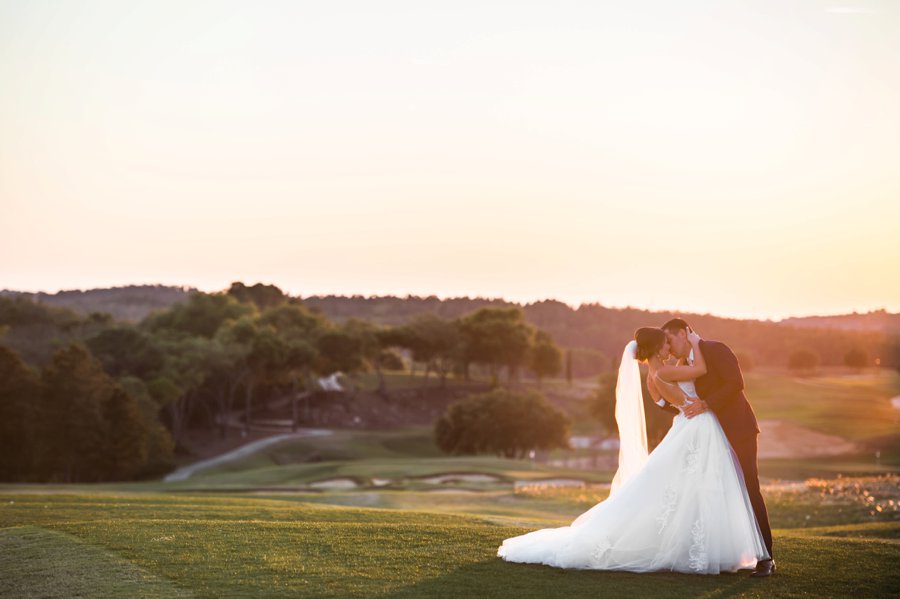
[[[140,381],[115,381],[79,345],[40,371],[0,346],[0,480],[94,482],[171,467],[172,438]]]

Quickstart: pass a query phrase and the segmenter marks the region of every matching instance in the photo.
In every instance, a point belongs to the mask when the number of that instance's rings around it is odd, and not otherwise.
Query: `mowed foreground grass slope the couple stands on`
[[[879,597],[900,592],[900,523],[778,530],[751,580],[511,564],[529,528],[254,497],[0,495],[0,594],[144,597]]]

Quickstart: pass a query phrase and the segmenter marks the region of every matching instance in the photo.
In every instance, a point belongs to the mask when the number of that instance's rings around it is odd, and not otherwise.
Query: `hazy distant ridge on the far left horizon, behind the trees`
[[[193,287],[165,285],[128,285],[108,289],[67,290],[58,293],[27,293],[0,290],[0,296],[27,297],[32,301],[68,308],[79,314],[105,312],[116,320],[138,322],[155,310],[164,310],[184,301],[195,292]]]

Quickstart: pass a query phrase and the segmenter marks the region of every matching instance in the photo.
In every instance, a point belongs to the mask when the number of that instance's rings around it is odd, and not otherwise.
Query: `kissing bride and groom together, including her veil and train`
[[[676,414],[648,454],[639,362]],[[505,539],[506,561],[558,568],[719,574],[775,572],[759,488],[759,425],[731,349],[675,318],[625,346],[616,382],[619,466],[609,497],[570,525]]]

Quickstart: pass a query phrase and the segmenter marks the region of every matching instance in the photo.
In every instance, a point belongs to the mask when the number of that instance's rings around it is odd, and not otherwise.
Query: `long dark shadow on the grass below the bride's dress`
[[[379,597],[427,599],[437,597],[736,597],[764,591],[767,580],[749,572],[718,576],[657,572],[603,572],[516,564],[500,558],[469,564],[442,576]]]

